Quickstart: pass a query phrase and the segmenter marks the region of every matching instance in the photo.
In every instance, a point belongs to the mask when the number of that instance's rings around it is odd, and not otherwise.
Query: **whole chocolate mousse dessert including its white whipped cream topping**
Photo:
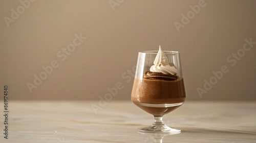
[[[159,51],[162,54],[161,49]],[[143,79],[134,79],[131,96],[135,105],[154,116],[175,110],[186,97],[183,77],[177,75],[177,69],[169,66],[168,61],[163,62],[159,57],[164,59],[166,56],[157,56],[155,61],[158,62],[154,62],[151,70],[144,73]]]

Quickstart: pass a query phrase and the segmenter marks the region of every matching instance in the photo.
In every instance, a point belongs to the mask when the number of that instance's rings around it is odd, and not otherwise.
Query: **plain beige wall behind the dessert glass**
[[[187,100],[255,100],[256,44],[245,44],[256,42],[255,8],[240,0],[0,1],[1,95],[8,84],[13,100],[98,100],[121,83],[113,100],[130,100],[138,52],[160,44],[181,53]]]

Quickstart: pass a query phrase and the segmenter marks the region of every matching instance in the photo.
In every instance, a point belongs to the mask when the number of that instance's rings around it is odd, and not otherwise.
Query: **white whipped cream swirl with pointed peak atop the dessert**
[[[168,58],[164,54],[159,45],[159,51],[157,53],[154,65],[150,67],[150,71],[162,74],[177,75],[178,70],[174,66],[169,65]]]

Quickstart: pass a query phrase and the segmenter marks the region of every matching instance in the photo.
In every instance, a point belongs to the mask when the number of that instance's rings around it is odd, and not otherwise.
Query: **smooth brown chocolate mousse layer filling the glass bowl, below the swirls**
[[[185,89],[183,78],[167,81],[160,79],[134,80],[132,102],[153,115],[164,115],[175,110],[185,101]],[[142,104],[146,103],[146,104]],[[154,107],[147,104],[179,104],[177,106]]]

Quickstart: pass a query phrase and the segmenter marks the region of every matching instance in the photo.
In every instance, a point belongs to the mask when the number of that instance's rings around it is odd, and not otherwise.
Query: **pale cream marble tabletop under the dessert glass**
[[[174,135],[138,133],[154,118],[131,101],[0,102],[0,142],[256,142],[256,102],[186,101],[163,117]]]

